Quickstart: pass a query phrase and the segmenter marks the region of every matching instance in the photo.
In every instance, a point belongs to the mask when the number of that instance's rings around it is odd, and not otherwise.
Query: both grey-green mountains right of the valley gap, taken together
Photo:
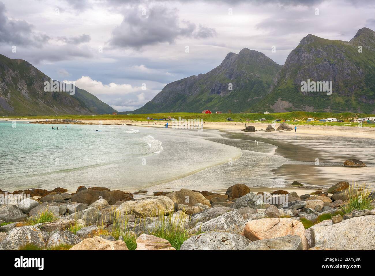
[[[332,81],[332,94],[302,92],[303,81]],[[231,86],[232,90],[229,89]],[[206,74],[167,84],[133,113],[320,112],[375,113],[375,32],[358,30],[350,41],[307,35],[284,66],[263,53],[229,53]]]

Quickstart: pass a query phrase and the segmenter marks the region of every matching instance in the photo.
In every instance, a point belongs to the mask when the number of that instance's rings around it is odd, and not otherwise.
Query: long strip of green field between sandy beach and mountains
[[[15,116],[14,118],[20,119],[75,119],[75,120],[133,120],[133,121],[147,121],[147,117],[157,119],[168,118],[178,119],[203,119],[206,122],[225,122],[226,118],[232,118],[234,122],[245,122],[250,120],[260,120],[261,118],[266,119],[266,122],[272,122],[276,119],[290,121],[293,124],[311,124],[311,125],[350,125],[358,126],[358,123],[350,123],[350,120],[362,117],[375,117],[373,114],[359,114],[359,113],[324,113],[324,112],[303,112],[294,111],[286,113],[270,113],[270,114],[258,114],[258,113],[231,113],[231,114],[203,114],[203,113],[155,113],[155,114],[136,114],[136,115],[61,115],[61,116]],[[314,122],[305,122],[308,118],[314,118]],[[319,119],[326,118],[337,118],[344,122],[317,122]],[[10,119],[8,117],[7,119]],[[294,122],[294,120],[301,120]],[[375,124],[363,123],[363,126],[375,127]]]

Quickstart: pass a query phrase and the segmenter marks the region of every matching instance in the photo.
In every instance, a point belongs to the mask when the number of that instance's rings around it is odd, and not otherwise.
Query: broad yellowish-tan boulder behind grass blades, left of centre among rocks
[[[201,195],[200,193],[197,194]],[[204,196],[202,197],[204,198]],[[207,199],[205,200],[208,201]],[[174,211],[174,203],[169,197],[153,196],[150,198],[140,199],[138,201],[126,201],[118,206],[117,210],[120,211],[121,214],[157,217],[162,213],[172,213]]]

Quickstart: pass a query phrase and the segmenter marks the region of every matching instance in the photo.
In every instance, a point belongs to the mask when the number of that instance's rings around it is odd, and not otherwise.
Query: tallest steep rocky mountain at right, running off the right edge
[[[332,81],[332,94],[301,92],[301,82],[308,79]],[[375,113],[375,32],[362,28],[348,42],[307,35],[257,109]]]

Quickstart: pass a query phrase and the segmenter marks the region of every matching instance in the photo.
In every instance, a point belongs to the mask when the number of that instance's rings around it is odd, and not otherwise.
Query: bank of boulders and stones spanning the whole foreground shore
[[[129,237],[132,250],[374,250],[375,210],[342,213],[348,187],[298,196],[236,184],[224,195],[181,189],[141,199],[104,187],[16,191],[0,205],[0,250],[129,250]],[[174,227],[186,233],[179,246],[157,234]]]

